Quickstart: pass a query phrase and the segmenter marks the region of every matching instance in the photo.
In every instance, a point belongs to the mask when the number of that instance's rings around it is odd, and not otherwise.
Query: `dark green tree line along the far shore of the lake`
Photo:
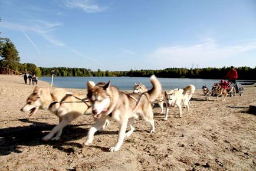
[[[204,79],[224,79],[225,75],[231,70],[230,67],[222,68],[166,68],[164,70],[130,70],[130,71],[91,71],[86,68],[67,68],[39,67],[42,75],[50,76],[51,70],[54,75],[61,77],[150,77],[155,74],[162,78],[204,78]],[[256,67],[238,67],[239,80],[256,80]]]

